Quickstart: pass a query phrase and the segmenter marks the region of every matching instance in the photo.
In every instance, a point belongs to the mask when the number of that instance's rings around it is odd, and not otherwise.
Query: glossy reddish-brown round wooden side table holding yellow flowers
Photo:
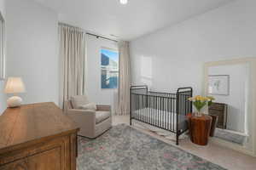
[[[207,145],[212,126],[212,117],[207,115],[188,116],[190,139],[194,144]]]

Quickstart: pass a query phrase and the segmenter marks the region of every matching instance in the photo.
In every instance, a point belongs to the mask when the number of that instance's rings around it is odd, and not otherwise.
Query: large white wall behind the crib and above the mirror
[[[256,56],[255,6],[235,1],[132,41],[133,84],[172,92],[192,86],[202,94],[203,63]]]

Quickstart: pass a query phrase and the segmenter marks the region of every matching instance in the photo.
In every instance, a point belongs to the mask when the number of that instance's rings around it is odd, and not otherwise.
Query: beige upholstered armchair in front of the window
[[[82,99],[84,98],[84,99]],[[86,97],[77,96],[79,103],[86,102]],[[79,127],[79,135],[90,139],[95,139],[112,127],[112,116],[110,105],[96,105],[96,111],[76,109],[73,106],[73,99],[68,100],[65,105],[67,116],[73,119]],[[81,101],[82,99],[82,101]],[[84,101],[83,101],[84,100]]]

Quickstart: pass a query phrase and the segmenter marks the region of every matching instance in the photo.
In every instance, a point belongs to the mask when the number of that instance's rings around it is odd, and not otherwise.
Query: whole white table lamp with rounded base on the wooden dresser
[[[9,77],[4,88],[4,93],[14,94],[15,96],[7,99],[7,105],[9,107],[19,107],[21,105],[22,99],[19,96],[16,96],[16,94],[24,92],[25,86],[22,82],[22,79],[20,77]]]

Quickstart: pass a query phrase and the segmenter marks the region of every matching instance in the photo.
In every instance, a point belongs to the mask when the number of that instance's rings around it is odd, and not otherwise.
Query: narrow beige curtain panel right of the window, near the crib
[[[131,66],[129,42],[119,42],[119,106],[116,114],[130,114]]]

